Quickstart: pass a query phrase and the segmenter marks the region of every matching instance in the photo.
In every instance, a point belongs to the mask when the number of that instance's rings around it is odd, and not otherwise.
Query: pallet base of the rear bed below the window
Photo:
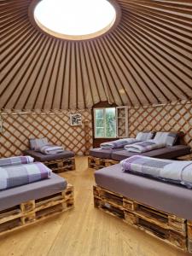
[[[103,159],[95,156],[88,156],[88,166],[96,170],[102,169],[103,167],[113,166],[119,164],[119,161]]]

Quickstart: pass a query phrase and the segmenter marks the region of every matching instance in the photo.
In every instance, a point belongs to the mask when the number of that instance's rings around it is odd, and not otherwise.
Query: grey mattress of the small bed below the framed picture
[[[28,149],[23,151],[23,154],[31,155],[35,160],[38,160],[40,162],[44,162],[47,160],[65,159],[74,156],[74,153],[68,150],[64,150],[64,152],[58,154],[42,154],[38,151]]]

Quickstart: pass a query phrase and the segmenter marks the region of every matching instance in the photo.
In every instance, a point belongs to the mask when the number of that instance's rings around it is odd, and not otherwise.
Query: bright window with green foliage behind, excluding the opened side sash
[[[95,137],[116,137],[116,109],[94,108]]]

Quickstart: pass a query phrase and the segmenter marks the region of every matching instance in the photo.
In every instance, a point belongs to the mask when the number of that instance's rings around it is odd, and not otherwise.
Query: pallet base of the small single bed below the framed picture
[[[74,157],[67,159],[49,160],[43,162],[45,166],[48,166],[53,172],[67,172],[75,170]]]

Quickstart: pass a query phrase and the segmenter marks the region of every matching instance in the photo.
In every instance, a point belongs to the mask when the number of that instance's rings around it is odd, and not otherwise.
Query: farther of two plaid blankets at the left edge
[[[29,155],[26,156],[14,156],[9,158],[0,159],[0,167],[3,166],[17,166],[22,164],[32,163],[34,158]]]

